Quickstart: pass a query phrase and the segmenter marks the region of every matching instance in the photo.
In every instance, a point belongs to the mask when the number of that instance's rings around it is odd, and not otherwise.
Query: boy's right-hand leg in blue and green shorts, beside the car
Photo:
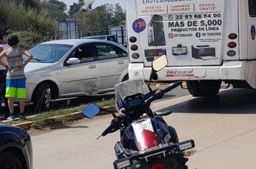
[[[17,98],[19,99],[19,109],[20,109],[20,120],[25,120],[26,117],[24,115],[25,110],[25,99],[26,99],[26,79],[18,79],[18,88],[17,88]]]

